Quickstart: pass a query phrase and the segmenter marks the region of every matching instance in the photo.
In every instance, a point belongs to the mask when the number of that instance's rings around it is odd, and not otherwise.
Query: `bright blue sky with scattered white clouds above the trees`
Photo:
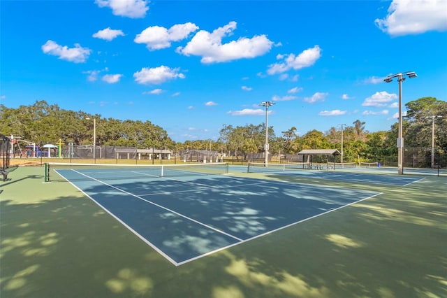
[[[175,141],[397,122],[447,97],[447,1],[0,0],[0,102],[151,121]]]

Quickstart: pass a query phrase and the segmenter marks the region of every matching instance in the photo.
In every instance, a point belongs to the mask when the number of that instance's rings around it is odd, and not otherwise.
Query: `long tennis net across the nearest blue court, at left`
[[[228,163],[210,164],[68,164],[51,162],[47,164],[47,181],[64,180],[111,180],[147,179],[159,177],[180,177],[200,175],[222,175],[228,173]],[[69,176],[69,177],[67,177]]]

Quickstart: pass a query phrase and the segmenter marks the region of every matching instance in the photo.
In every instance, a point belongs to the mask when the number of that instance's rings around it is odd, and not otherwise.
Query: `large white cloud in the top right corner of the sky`
[[[388,15],[374,21],[392,36],[447,30],[446,0],[393,0]]]

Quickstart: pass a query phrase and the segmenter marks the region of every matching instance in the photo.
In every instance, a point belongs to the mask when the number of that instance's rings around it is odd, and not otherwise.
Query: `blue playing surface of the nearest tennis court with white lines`
[[[57,170],[175,265],[379,194],[230,176],[100,180],[101,171]]]

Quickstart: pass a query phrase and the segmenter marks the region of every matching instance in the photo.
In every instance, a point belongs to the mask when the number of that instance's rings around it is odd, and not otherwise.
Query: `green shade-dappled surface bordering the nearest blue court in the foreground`
[[[68,183],[30,181],[0,197],[1,297],[447,295],[445,179],[388,188],[179,267]]]

